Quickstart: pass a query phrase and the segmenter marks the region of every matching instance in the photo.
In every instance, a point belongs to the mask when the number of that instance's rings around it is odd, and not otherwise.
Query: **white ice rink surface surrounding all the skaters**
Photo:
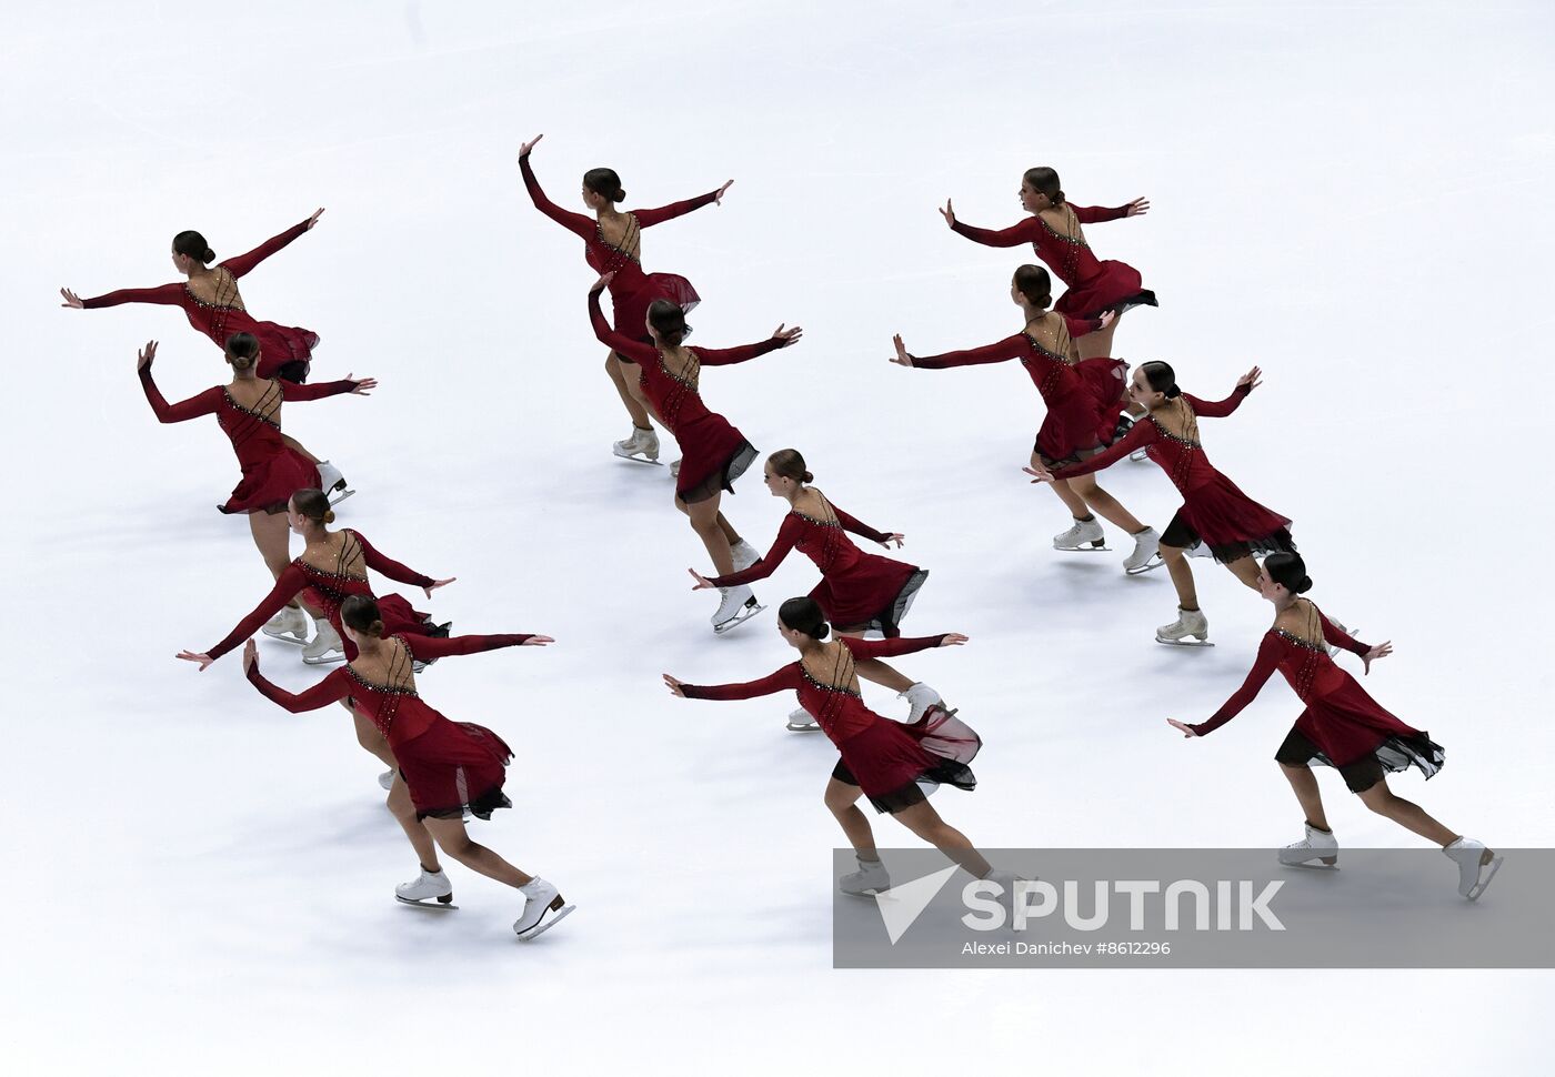
[[[8,8],[6,1068],[1546,1072],[1549,971],[833,971],[835,752],[784,732],[788,698],[659,685],[790,653],[771,611],[714,639],[669,476],[611,458],[627,423],[594,277],[515,157],[544,132],[535,169],[566,207],[596,165],[628,205],[736,179],[648,232],[644,263],[697,284],[694,343],[804,326],[703,393],[907,533],[931,570],[908,634],[972,636],[900,660],[986,741],[977,793],[936,797],[949,821],[984,847],[1272,847],[1302,822],[1270,758],[1300,709],[1283,681],[1204,743],[1165,724],[1241,682],[1267,605],[1199,561],[1218,647],[1155,645],[1163,572],[1050,549],[1067,521],[1020,474],[1023,371],[886,362],[893,333],[933,353],[1019,329],[1029,249],[952,235],[945,197],[1014,224],[1031,165],[1082,205],[1148,196],[1087,228],[1160,295],[1116,354],[1213,398],[1264,367],[1207,448],[1295,519],[1312,597],[1398,648],[1365,685],[1448,766],[1393,788],[1494,845],[1549,845],[1552,30],[1538,3]],[[392,901],[415,863],[337,707],[292,716],[238,656],[173,659],[269,577],[211,510],[238,474],[215,421],[159,426],[135,348],[162,340],[171,399],[225,368],[176,308],[59,308],[59,286],[176,280],[180,228],[225,258],[319,205],[244,300],[322,334],[314,379],[383,387],[289,406],[286,429],[359,490],[341,524],[459,577],[418,608],[560,640],[421,678],[518,749],[515,810],[473,835],[577,903],[535,945],[512,892],[459,866],[457,914]],[[1104,485],[1157,527],[1179,504],[1152,465]],[[765,550],[784,507],[756,472],[737,491],[726,513]],[[759,594],[815,580],[795,555]],[[320,676],[269,642],[261,665]],[[1418,844],[1320,780],[1345,842]]]

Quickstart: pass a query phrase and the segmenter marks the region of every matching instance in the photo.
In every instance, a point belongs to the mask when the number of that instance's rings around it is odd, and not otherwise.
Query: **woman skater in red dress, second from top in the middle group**
[[[680,444],[681,466],[675,477],[675,507],[690,518],[692,530],[708,549],[708,556],[718,572],[729,573],[737,567],[746,567],[756,559],[754,550],[718,511],[718,500],[725,490],[734,491],[734,480],[751,466],[756,449],[726,418],[708,410],[697,382],[703,367],[726,367],[787,348],[804,334],[804,329],[798,325],[791,329],[779,325],[771,337],[760,343],[692,351],[681,343],[686,336],[686,312],[669,300],[653,300],[645,319],[653,343],[639,343],[613,331],[599,309],[599,294],[610,281],[611,274],[605,274],[589,289],[589,320],[594,325],[594,336],[602,343],[624,361],[636,364],[642,392],[653,404],[659,421]],[[745,564],[736,564],[732,547],[742,547],[742,553],[748,558]],[[712,614],[712,631],[726,633],[762,609],[765,606],[756,601],[748,586],[725,587],[718,609]]]

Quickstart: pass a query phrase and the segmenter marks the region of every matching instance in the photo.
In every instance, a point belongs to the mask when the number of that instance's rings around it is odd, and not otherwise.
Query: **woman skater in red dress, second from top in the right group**
[[[1031,375],[1048,407],[1037,441],[1031,449],[1031,466],[1048,471],[1079,463],[1112,443],[1124,401],[1127,364],[1116,359],[1085,359],[1075,362],[1075,340],[1101,333],[1116,320],[1112,309],[1085,319],[1050,311],[1053,281],[1040,266],[1022,266],[1009,286],[1009,297],[1026,315],[1020,333],[997,343],[942,356],[914,356],[896,343],[896,362],[902,367],[944,370],[1019,359]],[[1141,524],[1116,497],[1096,485],[1090,476],[1061,479],[1053,483],[1075,525],[1053,536],[1057,550],[1104,550],[1106,536],[1096,514],[1134,536],[1134,552],[1124,558],[1129,575],[1160,567],[1157,555],[1160,535]]]

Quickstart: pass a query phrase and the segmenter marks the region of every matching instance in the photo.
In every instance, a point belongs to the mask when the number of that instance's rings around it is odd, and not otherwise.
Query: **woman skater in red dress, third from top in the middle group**
[[[913,606],[917,589],[928,578],[928,570],[877,553],[865,553],[844,532],[886,549],[891,549],[891,542],[900,549],[907,536],[877,532],[832,505],[826,494],[807,485],[815,476],[805,469],[798,449],[779,449],[771,454],[764,471],[767,491],[788,502],[788,514],[778,528],[773,547],[751,567],[728,575],[708,578],[690,569],[697,581],[692,591],[739,587],[765,580],[778,570],[788,550],[798,547],[821,570],[821,583],[810,592],[810,598],[821,608],[821,615],[835,625],[833,631],[838,636],[858,639],[868,631],[877,631],[886,639],[900,636],[902,629],[897,625]],[[907,696],[911,707],[908,721],[917,721],[928,707],[944,702],[927,684],[902,676],[880,659],[858,659],[857,668],[866,681]],[[819,727],[815,715],[804,707],[788,715],[788,729],[793,732]]]

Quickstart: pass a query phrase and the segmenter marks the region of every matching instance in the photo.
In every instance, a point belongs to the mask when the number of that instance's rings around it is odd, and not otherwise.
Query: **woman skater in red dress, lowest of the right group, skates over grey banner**
[[[1441,845],[1441,852],[1459,866],[1459,892],[1476,900],[1501,870],[1502,858],[1473,838],[1455,835],[1427,816],[1420,805],[1393,796],[1384,771],[1420,768],[1427,779],[1441,769],[1445,752],[1420,729],[1379,707],[1353,676],[1334,665],[1328,645],[1359,654],[1367,673],[1375,659],[1393,653],[1392,643],[1367,647],[1323,615],[1309,598],[1297,595],[1309,591],[1311,577],[1297,553],[1270,553],[1258,572],[1258,592],[1274,605],[1274,626],[1258,647],[1258,662],[1242,687],[1214,712],[1208,721],[1185,724],[1174,718],[1166,723],[1183,737],[1214,732],[1256,698],[1280,670],[1291,682],[1306,710],[1295,720],[1275,762],[1291,783],[1302,811],[1306,813],[1306,838],[1280,850],[1281,864],[1323,864],[1339,861],[1339,841],[1323,814],[1323,799],[1311,765],[1333,766],[1345,779],[1350,791],[1372,811],[1392,819],[1406,830]]]

